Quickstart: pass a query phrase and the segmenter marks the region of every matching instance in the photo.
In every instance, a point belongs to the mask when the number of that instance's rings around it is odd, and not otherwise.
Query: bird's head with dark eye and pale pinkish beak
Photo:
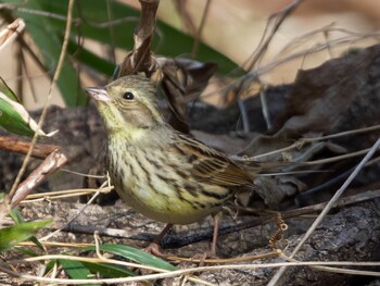
[[[124,76],[105,87],[86,88],[86,92],[96,100],[110,133],[155,128],[164,122],[156,87],[143,76]]]

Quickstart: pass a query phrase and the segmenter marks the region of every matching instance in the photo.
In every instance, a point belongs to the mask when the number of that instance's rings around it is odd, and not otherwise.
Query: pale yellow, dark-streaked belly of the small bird
[[[187,182],[186,188],[179,187],[175,176],[163,179],[167,170],[162,170],[163,174],[154,169],[148,170],[141,162],[136,162],[136,154],[124,153],[124,160],[119,160],[121,154],[113,152],[110,158],[112,183],[122,200],[152,220],[173,224],[193,223],[219,211],[225,201],[202,195],[198,191],[202,186],[197,182]]]

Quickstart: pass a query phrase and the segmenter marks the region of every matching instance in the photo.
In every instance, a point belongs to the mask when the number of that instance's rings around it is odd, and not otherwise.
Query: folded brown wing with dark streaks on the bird
[[[237,165],[224,153],[180,134],[176,146],[192,164],[190,172],[200,181],[224,186],[252,185],[253,176]]]

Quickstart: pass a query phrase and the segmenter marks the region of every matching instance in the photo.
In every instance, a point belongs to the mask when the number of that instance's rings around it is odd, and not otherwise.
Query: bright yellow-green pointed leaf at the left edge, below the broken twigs
[[[0,252],[11,249],[17,244],[29,239],[37,231],[51,224],[52,220],[21,223],[0,229]]]

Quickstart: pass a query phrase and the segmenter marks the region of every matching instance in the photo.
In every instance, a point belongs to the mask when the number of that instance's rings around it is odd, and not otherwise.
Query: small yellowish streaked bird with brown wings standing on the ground
[[[150,79],[129,75],[86,91],[106,127],[106,169],[117,194],[143,215],[167,223],[156,243],[173,224],[216,215],[239,189],[253,187],[253,175],[225,153],[165,122]]]

